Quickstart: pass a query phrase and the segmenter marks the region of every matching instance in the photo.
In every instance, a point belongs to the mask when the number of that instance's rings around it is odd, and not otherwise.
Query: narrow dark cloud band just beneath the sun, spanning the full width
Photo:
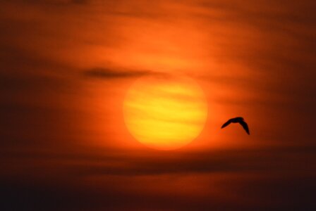
[[[92,153],[87,153],[92,151]],[[33,169],[36,160],[47,162],[48,172],[59,169],[60,174],[73,177],[102,177],[102,176],[150,176],[163,174],[213,174],[241,172],[272,172],[300,171],[309,174],[312,165],[305,160],[315,157],[316,148],[303,147],[270,147],[263,149],[222,150],[222,151],[123,151],[104,149],[104,153],[95,153],[92,148],[85,152],[55,151],[17,151],[6,153],[2,157],[7,160],[20,158],[25,160],[25,168]],[[287,162],[284,162],[284,159]],[[291,165],[289,165],[291,164]],[[20,172],[23,168],[8,172]],[[40,174],[35,170],[32,174]],[[51,173],[52,173],[51,172]]]

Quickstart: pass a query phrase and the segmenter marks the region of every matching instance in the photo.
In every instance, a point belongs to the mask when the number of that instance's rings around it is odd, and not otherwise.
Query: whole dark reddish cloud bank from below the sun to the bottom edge
[[[313,166],[305,162],[315,158],[315,148],[196,153],[108,150],[99,155],[57,155],[51,151],[17,155],[12,156],[13,160],[23,160],[23,167],[16,169],[13,177],[4,177],[14,165],[9,162],[13,165],[8,166],[0,180],[0,195],[4,199],[1,205],[11,210],[315,207]],[[21,174],[18,176],[17,172]]]

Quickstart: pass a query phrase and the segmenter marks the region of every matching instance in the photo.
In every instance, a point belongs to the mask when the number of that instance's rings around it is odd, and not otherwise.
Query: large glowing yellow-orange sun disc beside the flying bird
[[[207,100],[189,77],[152,75],[128,89],[123,115],[130,134],[159,150],[174,150],[193,141],[207,120]]]

